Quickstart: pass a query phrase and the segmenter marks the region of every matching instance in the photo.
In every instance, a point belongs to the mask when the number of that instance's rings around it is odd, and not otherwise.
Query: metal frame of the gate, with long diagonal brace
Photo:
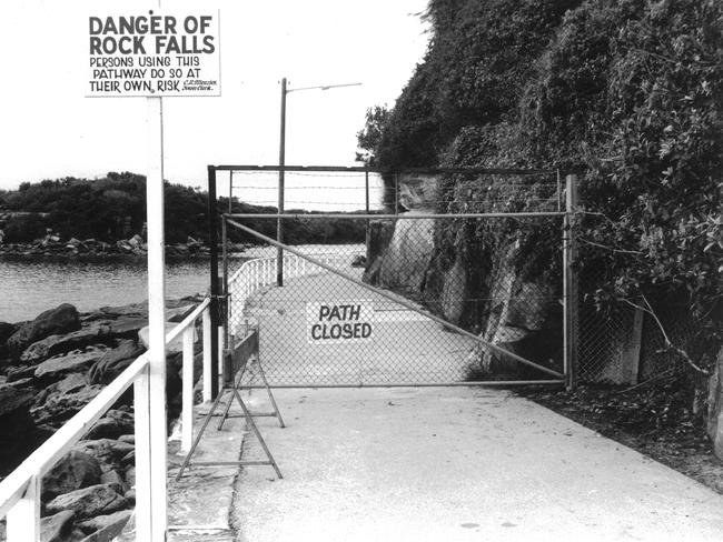
[[[216,217],[217,212],[217,202],[216,202],[216,172],[217,171],[228,171],[232,174],[234,171],[278,171],[283,174],[285,171],[307,171],[307,172],[364,172],[366,175],[366,209],[367,214],[360,213],[314,213],[314,214],[298,214],[298,213],[222,213],[221,214],[221,227],[222,227],[222,262],[224,262],[224,274],[222,282],[219,284],[218,278],[218,238],[216,234]],[[228,254],[227,254],[227,229],[228,225],[237,228],[265,243],[268,243],[271,247],[278,249],[279,258],[283,251],[287,251],[298,258],[307,260],[308,262],[318,265],[321,269],[325,269],[328,272],[331,272],[338,277],[341,277],[344,280],[349,281],[354,284],[357,284],[368,291],[372,291],[380,297],[389,299],[395,303],[398,303],[406,309],[414,311],[432,321],[435,321],[439,324],[445,325],[454,330],[455,332],[472,339],[473,341],[482,344],[484,348],[502,353],[518,363],[532,367],[536,370],[539,370],[546,374],[554,377],[554,380],[513,380],[513,381],[465,381],[465,382],[447,382],[447,383],[405,383],[405,384],[368,384],[368,387],[375,388],[390,388],[397,385],[413,385],[413,387],[452,387],[452,385],[475,385],[475,387],[508,387],[508,385],[533,385],[533,384],[552,384],[552,385],[565,385],[567,389],[574,387],[574,362],[576,354],[576,309],[577,309],[577,284],[576,277],[574,273],[574,262],[575,262],[575,239],[574,239],[574,221],[573,215],[576,210],[576,175],[570,174],[565,178],[565,210],[562,210],[562,201],[559,199],[562,187],[559,172],[554,170],[531,170],[531,169],[485,169],[485,168],[464,168],[464,169],[404,169],[395,171],[395,173],[477,173],[477,174],[508,174],[508,175],[531,175],[531,174],[557,174],[557,184],[558,184],[558,210],[557,211],[539,211],[539,212],[493,212],[493,213],[429,213],[429,214],[369,214],[369,198],[368,198],[368,173],[388,173],[372,168],[344,168],[344,167],[299,167],[299,165],[208,165],[208,188],[209,188],[209,237],[211,241],[211,300],[217,301],[217,310],[211,311],[218,314],[218,319],[215,324],[219,328],[224,328],[224,351],[227,351],[229,348],[229,331],[228,331],[228,312],[229,312],[229,291],[228,291]],[[232,182],[232,177],[230,178]],[[395,177],[396,179],[396,177]],[[212,188],[211,188],[212,187]],[[232,195],[232,184],[229,187],[229,211],[231,205],[231,195]],[[395,209],[396,202],[398,201],[398,187],[395,183]],[[313,257],[301,253],[296,250],[294,247],[287,245],[278,240],[271,239],[263,233],[248,228],[237,220],[242,219],[276,219],[277,223],[280,223],[284,219],[305,219],[305,220],[326,220],[326,219],[357,219],[357,220],[422,220],[422,219],[491,219],[491,218],[562,218],[563,219],[563,235],[562,235],[562,252],[563,252],[563,372],[559,373],[552,369],[548,369],[544,365],[541,365],[536,362],[527,360],[514,352],[509,352],[497,344],[485,341],[478,335],[458,327],[452,324],[450,322],[439,318],[428,311],[422,310],[416,307],[414,303],[410,303],[400,297],[390,294],[384,289],[376,288],[372,284],[367,284],[363,281],[357,280],[354,277],[350,277],[338,269],[333,268],[321,261],[316,260]],[[367,245],[368,245],[368,232],[367,232]],[[219,288],[221,287],[221,288]],[[222,308],[219,300],[226,301],[226,307]],[[212,334],[212,338],[218,341],[216,334]],[[216,342],[214,341],[214,342]],[[218,352],[218,344],[216,345],[216,351]],[[212,349],[214,350],[214,349]],[[217,381],[218,379],[215,379]],[[359,384],[276,384],[271,388],[358,388]]]

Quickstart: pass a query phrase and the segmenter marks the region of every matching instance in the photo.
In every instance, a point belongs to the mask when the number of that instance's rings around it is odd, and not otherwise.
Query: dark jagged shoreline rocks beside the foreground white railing
[[[169,320],[182,320],[198,301],[169,303]],[[138,334],[147,313],[146,304],[85,314],[62,304],[30,322],[0,322],[0,474],[17,466],[146,350]],[[167,363],[172,418],[179,411],[180,355],[169,354]],[[128,521],[136,478],[131,405],[132,389],[43,478],[42,540],[112,540]]]

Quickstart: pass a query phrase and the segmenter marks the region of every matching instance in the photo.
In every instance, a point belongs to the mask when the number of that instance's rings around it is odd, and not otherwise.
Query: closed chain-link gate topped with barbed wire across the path
[[[252,175],[241,190],[264,185],[258,168],[216,169]],[[299,169],[307,184],[334,173]],[[341,171],[347,183],[349,170]],[[277,171],[263,173],[274,181]],[[408,212],[399,211],[415,194],[405,201],[405,190],[419,173],[396,172],[393,183],[387,175],[383,209],[373,212],[369,170],[359,169],[364,212],[226,213],[228,340],[258,327],[259,358],[276,388],[564,383],[559,181],[549,172],[489,171],[445,173],[468,175],[485,198],[445,202],[436,187],[425,209]],[[293,173],[285,168],[287,187]],[[502,193],[485,174],[508,181]],[[507,211],[516,202],[511,190],[525,204]],[[274,239],[281,221],[296,243]],[[482,242],[491,234],[504,241],[496,254]],[[230,250],[239,240],[241,258]]]

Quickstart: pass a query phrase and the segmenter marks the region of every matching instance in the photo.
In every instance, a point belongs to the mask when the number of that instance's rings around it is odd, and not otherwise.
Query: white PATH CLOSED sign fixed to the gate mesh
[[[369,300],[306,303],[310,344],[348,344],[372,340],[374,305]]]

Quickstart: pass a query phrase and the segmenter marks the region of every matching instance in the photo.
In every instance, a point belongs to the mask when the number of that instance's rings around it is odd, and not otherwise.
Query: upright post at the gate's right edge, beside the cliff
[[[565,388],[575,387],[577,369],[577,251],[575,247],[575,219],[577,208],[577,175],[565,177],[565,219],[563,231],[563,372]]]

